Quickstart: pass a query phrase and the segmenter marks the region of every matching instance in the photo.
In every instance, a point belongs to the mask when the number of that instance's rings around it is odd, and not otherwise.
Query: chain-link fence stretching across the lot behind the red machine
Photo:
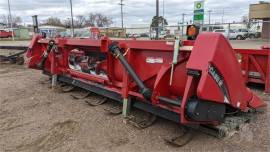
[[[83,28],[75,29],[75,37],[78,38],[100,38],[107,36],[112,39],[141,39],[141,40],[154,40],[154,39],[174,39],[180,37],[185,40],[186,30],[188,24],[178,24],[172,26],[139,26],[130,28],[109,27],[109,28],[96,28],[98,29],[99,36],[93,36],[91,29]],[[217,24],[204,24],[200,26],[200,32],[215,32],[221,33],[229,40],[261,40],[263,37],[268,37],[270,40],[270,21],[256,21],[256,22],[233,22],[233,23],[217,23]],[[64,32],[59,32],[55,35],[62,37],[70,37],[70,29]],[[158,35],[157,35],[158,33]]]

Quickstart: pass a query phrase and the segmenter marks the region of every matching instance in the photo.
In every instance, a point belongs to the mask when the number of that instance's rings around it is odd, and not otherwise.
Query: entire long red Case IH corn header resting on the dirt
[[[29,68],[51,76],[53,85],[123,103],[124,116],[135,107],[218,137],[266,106],[246,87],[234,50],[218,33],[202,33],[195,42],[36,36],[27,57]],[[179,139],[170,142],[181,145]]]

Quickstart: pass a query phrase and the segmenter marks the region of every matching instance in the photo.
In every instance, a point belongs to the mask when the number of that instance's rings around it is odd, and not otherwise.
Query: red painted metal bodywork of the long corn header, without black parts
[[[127,62],[139,78],[152,90],[151,101],[144,99],[138,86],[133,82],[120,61],[108,51],[108,46],[113,40],[108,38],[102,38],[101,40],[56,38],[54,40],[58,53],[50,53],[45,63],[45,71],[58,75],[68,75],[89,84],[97,83],[108,90],[120,93],[123,98],[135,97],[138,102],[148,102],[152,106],[173,111],[180,115],[180,122],[183,124],[217,123],[194,122],[186,118],[186,105],[189,99],[194,96],[202,100],[226,104],[228,107],[243,112],[246,112],[249,108],[257,109],[265,106],[261,99],[246,88],[246,79],[241,74],[241,68],[234,51],[221,34],[203,33],[199,35],[195,43],[194,41],[183,42],[183,48],[192,45],[194,47],[192,51],[188,49],[180,50],[178,63],[174,68],[172,85],[169,84],[169,79],[174,42],[114,40],[118,43]],[[33,38],[27,53],[29,68],[38,69],[36,65],[40,62],[47,45],[48,40],[39,36]],[[74,49],[84,51],[85,54],[99,53],[104,56],[104,59],[95,63],[97,74],[85,73],[69,67],[69,55]],[[222,83],[227,86],[229,101],[225,100],[222,90],[211,78],[209,74],[210,65],[214,65],[223,76],[224,82]],[[244,64],[245,66],[246,64]],[[188,75],[188,70],[199,71],[201,73],[200,78]],[[103,73],[103,75],[100,73]],[[161,96],[175,101],[179,101],[177,99],[181,98],[182,101],[179,106],[169,105],[159,101]]]

